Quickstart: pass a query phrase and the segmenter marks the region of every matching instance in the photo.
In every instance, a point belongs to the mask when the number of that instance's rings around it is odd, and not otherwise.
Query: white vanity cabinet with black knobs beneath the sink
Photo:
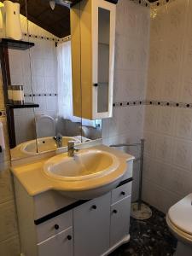
[[[74,201],[53,190],[30,196],[15,178],[22,255],[105,256],[129,241],[131,181],[125,175],[108,194]]]

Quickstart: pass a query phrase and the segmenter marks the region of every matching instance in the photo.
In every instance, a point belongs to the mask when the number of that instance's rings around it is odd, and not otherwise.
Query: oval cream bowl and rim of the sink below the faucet
[[[101,150],[84,150],[74,157],[55,156],[44,165],[44,172],[61,181],[79,181],[102,177],[119,166],[115,155]]]

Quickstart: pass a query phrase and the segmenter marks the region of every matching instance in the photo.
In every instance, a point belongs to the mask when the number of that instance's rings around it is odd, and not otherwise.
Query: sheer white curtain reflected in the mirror
[[[57,45],[57,84],[58,84],[58,115],[63,119],[81,122],[73,116],[73,86],[72,86],[72,57],[71,42]],[[96,126],[96,121],[82,119],[82,125]]]

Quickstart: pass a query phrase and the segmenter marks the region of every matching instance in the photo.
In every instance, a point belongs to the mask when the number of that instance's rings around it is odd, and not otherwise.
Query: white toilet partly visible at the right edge
[[[192,256],[192,194],[169,209],[166,223],[178,241],[174,256]]]

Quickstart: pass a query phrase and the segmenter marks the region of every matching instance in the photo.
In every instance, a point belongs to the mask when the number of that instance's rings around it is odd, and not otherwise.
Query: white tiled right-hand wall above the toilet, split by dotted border
[[[192,3],[151,9],[148,100],[192,102]],[[166,212],[192,191],[192,109],[147,106],[143,199]]]

